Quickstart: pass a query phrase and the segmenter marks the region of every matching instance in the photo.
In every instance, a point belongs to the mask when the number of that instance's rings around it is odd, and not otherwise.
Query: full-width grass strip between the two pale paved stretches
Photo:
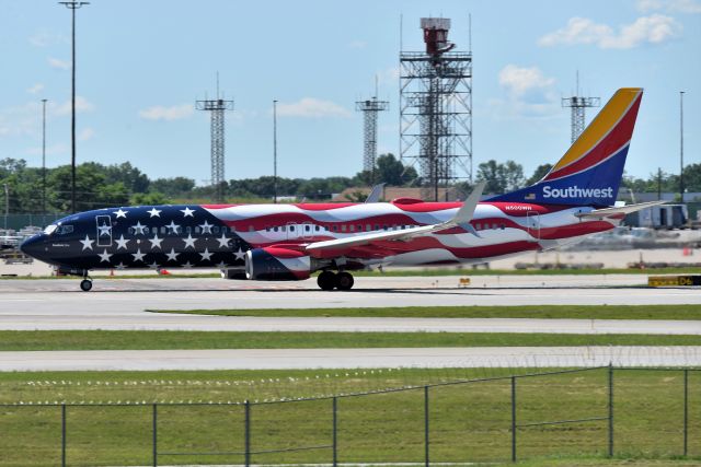
[[[2,330],[0,351],[356,349],[398,347],[697,346],[699,336],[507,332]],[[1,354],[0,354],[1,358]]]

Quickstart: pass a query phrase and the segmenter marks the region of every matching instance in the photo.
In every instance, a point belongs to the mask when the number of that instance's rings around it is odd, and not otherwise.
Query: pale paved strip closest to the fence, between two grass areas
[[[0,371],[701,365],[699,347],[502,347],[3,352]]]

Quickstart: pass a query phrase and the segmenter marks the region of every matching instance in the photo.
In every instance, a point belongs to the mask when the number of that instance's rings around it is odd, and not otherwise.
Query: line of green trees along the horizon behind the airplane
[[[503,194],[538,182],[551,167],[549,164],[540,165],[530,177],[526,177],[522,165],[515,161],[499,163],[491,160],[479,164],[474,178],[487,182],[485,192]],[[701,191],[701,164],[685,167],[683,179],[688,191]],[[272,199],[274,192],[297,199],[321,200],[349,187],[378,183],[421,187],[424,180],[414,167],[405,166],[393,154],[382,154],[377,159],[375,171],[360,172],[353,177],[278,177],[277,189],[272,176],[231,179],[223,183],[222,192],[228,201],[265,201]],[[47,213],[70,210],[70,165],[47,168],[43,173],[41,167],[27,166],[24,160],[3,159],[0,160],[0,185],[8,186],[10,212],[42,213],[44,206]],[[635,192],[655,192],[658,188],[677,191],[679,175],[660,172],[651,174],[648,178],[624,177],[623,185]],[[457,183],[456,186],[466,195],[471,189],[468,183]],[[195,180],[188,177],[150,179],[129,162],[113,165],[88,162],[76,167],[76,205],[79,211],[128,205],[211,202],[215,191],[211,186],[196,186]],[[0,195],[4,196],[3,190]]]

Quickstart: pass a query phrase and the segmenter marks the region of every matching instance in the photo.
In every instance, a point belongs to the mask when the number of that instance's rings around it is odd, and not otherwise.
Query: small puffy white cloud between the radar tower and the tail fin
[[[506,100],[492,100],[490,108],[498,117],[550,117],[560,113],[555,79],[538,67],[507,65],[498,73]]]

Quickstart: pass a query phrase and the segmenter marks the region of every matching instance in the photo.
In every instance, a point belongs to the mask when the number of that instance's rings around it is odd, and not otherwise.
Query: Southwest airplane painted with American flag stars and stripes
[[[68,215],[21,249],[82,277],[99,269],[219,268],[227,279],[304,280],[349,290],[372,266],[483,264],[609,231],[629,212],[616,203],[643,90],[618,90],[538,183],[464,202],[182,205],[100,209]],[[379,198],[372,194],[371,201]]]

